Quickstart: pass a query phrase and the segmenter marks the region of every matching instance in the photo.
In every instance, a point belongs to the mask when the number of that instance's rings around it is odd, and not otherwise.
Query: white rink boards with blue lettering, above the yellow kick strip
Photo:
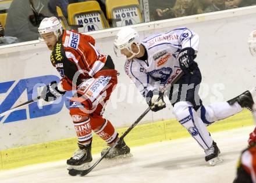
[[[248,45],[248,34],[256,27],[256,6],[223,12],[198,14],[151,23],[133,25],[141,38],[156,32],[188,27],[200,35],[200,50],[196,61],[202,73],[200,97],[204,105],[230,100],[255,87],[256,64]],[[117,129],[130,126],[148,107],[134,83],[123,69],[125,58],[113,53],[112,43],[120,27],[90,32],[101,53],[109,54],[120,72],[119,85],[111,95],[105,118]],[[235,30],[235,31],[234,31]],[[232,46],[231,46],[232,45]],[[235,52],[239,50],[239,52]],[[6,111],[37,96],[37,84],[48,85],[59,80],[59,73],[50,63],[45,43],[31,41],[0,46],[0,110]],[[241,64],[243,63],[243,64]],[[11,72],[10,72],[11,71]],[[69,115],[70,92],[62,101],[46,105],[37,103],[0,118],[0,149],[12,149],[75,137]],[[149,112],[140,124],[175,118],[168,99],[166,108]]]

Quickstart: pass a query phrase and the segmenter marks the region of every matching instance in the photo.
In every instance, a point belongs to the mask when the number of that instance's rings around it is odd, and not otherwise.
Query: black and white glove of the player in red
[[[51,102],[66,93],[66,91],[59,91],[57,85],[58,84],[56,81],[52,81],[51,83],[49,83],[49,85],[44,87],[44,89],[42,90],[42,99],[47,102]]]

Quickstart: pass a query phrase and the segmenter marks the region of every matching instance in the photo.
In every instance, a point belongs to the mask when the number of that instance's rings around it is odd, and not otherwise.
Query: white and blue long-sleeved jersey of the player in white
[[[184,47],[198,51],[199,36],[188,28],[177,28],[165,33],[153,34],[141,41],[148,59],[126,60],[125,72],[145,97],[150,90],[161,90],[181,71],[176,56]]]

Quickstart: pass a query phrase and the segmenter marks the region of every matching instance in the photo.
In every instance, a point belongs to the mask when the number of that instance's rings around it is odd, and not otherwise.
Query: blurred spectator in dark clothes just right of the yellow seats
[[[163,20],[176,17],[174,10],[176,0],[148,1],[150,6],[150,20]]]

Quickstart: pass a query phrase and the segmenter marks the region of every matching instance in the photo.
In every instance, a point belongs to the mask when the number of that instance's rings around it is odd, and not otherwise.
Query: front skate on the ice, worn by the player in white
[[[212,142],[212,146],[209,149],[204,150],[205,161],[207,161],[211,166],[215,166],[217,163],[221,163],[223,159],[219,157],[219,148],[216,142]]]

